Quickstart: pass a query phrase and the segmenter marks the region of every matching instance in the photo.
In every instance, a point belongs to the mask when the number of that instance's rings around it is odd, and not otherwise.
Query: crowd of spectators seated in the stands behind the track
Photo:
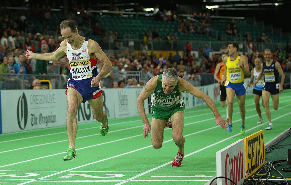
[[[50,11],[50,7],[53,8],[55,5],[42,6],[35,5],[29,13],[22,13],[21,16],[17,15],[16,11],[3,10],[0,14],[0,29],[1,29],[1,41],[0,41],[0,57],[1,57],[1,73],[7,74],[36,74],[46,77],[47,74],[59,74],[59,75],[68,75],[69,74],[69,63],[68,58],[63,56],[58,61],[41,61],[41,60],[29,60],[24,57],[24,52],[26,49],[30,49],[36,53],[47,53],[54,52],[56,48],[60,45],[63,38],[59,33],[59,28],[50,28],[46,26],[43,32],[40,32],[38,29],[30,29],[27,31],[27,25],[30,24],[29,18],[31,16],[37,17],[37,19],[49,20],[52,19],[55,15]],[[116,6],[112,5],[114,11],[118,11]],[[114,8],[115,7],[115,8]],[[156,18],[161,21],[173,21],[178,20],[175,16],[175,12],[168,10],[157,10],[159,7],[155,8]],[[82,10],[81,13],[85,13],[86,10],[84,6],[81,5],[78,7],[75,3],[72,4],[73,13],[70,14],[76,22],[80,23],[81,20],[77,16],[73,16],[74,12],[77,10]],[[139,8],[141,9],[141,8]],[[142,10],[140,10],[142,11]],[[41,16],[40,16],[41,15]],[[198,21],[203,25],[204,28],[208,28],[210,25],[209,13],[193,13],[193,19]],[[162,19],[162,18],[163,19]],[[93,21],[94,22],[94,21]],[[185,21],[181,21],[179,25],[179,31],[184,33],[197,33],[202,29],[195,29],[193,22],[188,23],[185,26]],[[96,34],[101,34],[102,31],[98,28],[98,24],[93,24]],[[240,34],[236,28],[234,19],[229,24],[232,34]],[[26,31],[26,32],[25,32]],[[49,32],[52,31],[52,32]],[[54,33],[54,34],[49,34]],[[79,33],[84,35],[82,28],[79,28]],[[103,33],[102,33],[103,34]],[[107,33],[106,33],[107,34]],[[108,41],[114,42],[118,38],[118,33],[109,31]],[[251,38],[247,35],[247,38]],[[194,49],[191,48],[191,42],[187,42],[187,50],[185,51],[176,51],[175,54],[170,52],[168,56],[163,56],[162,54],[155,54],[153,51],[148,54],[147,44],[150,44],[152,40],[161,40],[165,39],[168,42],[172,40],[178,40],[179,38],[174,33],[170,33],[166,38],[160,38],[157,30],[151,32],[151,29],[145,34],[144,43],[141,45],[141,52],[134,54],[134,52],[129,52],[128,54],[123,53],[122,55],[109,55],[109,59],[113,63],[113,67],[110,70],[109,74],[104,77],[103,83],[107,79],[111,79],[111,83],[106,83],[107,88],[126,88],[126,87],[142,87],[144,82],[141,79],[135,77],[129,77],[126,74],[131,74],[132,71],[141,71],[143,74],[146,74],[148,78],[151,78],[155,75],[162,74],[162,72],[169,67],[172,67],[177,70],[180,77],[186,80],[199,80],[201,74],[214,74],[215,66],[219,61],[220,56],[210,57],[209,53],[213,50],[208,47],[205,43],[204,46],[200,46],[198,56],[196,56]],[[266,38],[267,39],[267,38]],[[32,42],[33,41],[33,42]],[[224,49],[223,52],[226,52],[227,43],[222,46]],[[119,46],[116,45],[116,49]],[[291,51],[290,43],[284,48],[281,48],[279,45],[277,48],[274,48],[274,59],[279,61],[282,65],[282,68],[285,72],[291,72]],[[245,53],[249,58],[250,70],[254,66],[255,56],[253,52]],[[56,70],[56,66],[58,67]],[[100,67],[102,65],[100,64]],[[130,72],[129,72],[130,71]],[[9,79],[1,78],[2,82]],[[33,79],[30,79],[31,81]],[[107,82],[110,80],[107,80]],[[29,84],[29,82],[28,82]],[[105,87],[105,86],[104,86]]]

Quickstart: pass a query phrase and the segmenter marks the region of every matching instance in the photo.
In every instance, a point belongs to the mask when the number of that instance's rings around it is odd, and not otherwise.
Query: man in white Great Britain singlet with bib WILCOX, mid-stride
[[[26,58],[56,61],[65,54],[70,63],[70,74],[66,89],[68,109],[66,117],[69,149],[63,160],[72,160],[77,156],[75,140],[77,134],[77,110],[81,102],[88,101],[94,118],[101,122],[100,134],[108,132],[107,115],[102,111],[103,98],[100,80],[109,72],[112,64],[94,40],[78,34],[78,25],[73,20],[64,20],[60,24],[61,35],[64,40],[53,53],[38,54],[26,50]],[[97,59],[104,63],[102,70],[97,72]]]

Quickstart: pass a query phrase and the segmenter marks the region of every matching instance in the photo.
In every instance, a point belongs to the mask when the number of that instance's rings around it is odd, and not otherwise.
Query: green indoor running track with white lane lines
[[[270,108],[274,128],[265,130],[265,143],[290,128],[290,92],[280,94],[279,108]],[[260,101],[261,103],[261,101]],[[216,105],[226,118],[226,107]],[[255,110],[253,95],[246,96],[246,133],[239,134],[241,117],[235,98],[233,131],[214,123],[208,106],[186,109],[184,113],[185,154],[182,166],[171,163],[178,147],[171,129],[164,131],[162,148],[155,150],[149,137],[143,138],[139,116],[109,120],[107,136],[100,136],[100,122],[78,125],[77,157],[63,161],[68,149],[64,126],[0,134],[0,184],[195,184],[216,176],[216,152],[268,126],[261,106],[263,124]],[[148,115],[151,121],[151,116]],[[15,124],[15,123],[11,123]]]

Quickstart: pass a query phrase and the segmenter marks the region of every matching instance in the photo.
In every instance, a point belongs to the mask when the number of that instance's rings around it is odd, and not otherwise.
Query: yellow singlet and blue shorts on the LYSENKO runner
[[[232,88],[235,90],[236,95],[244,95],[246,93],[246,83],[244,82],[244,72],[242,68],[239,67],[238,61],[240,55],[237,56],[235,60],[230,60],[230,56],[227,57],[226,62],[226,78],[225,82],[226,88]]]

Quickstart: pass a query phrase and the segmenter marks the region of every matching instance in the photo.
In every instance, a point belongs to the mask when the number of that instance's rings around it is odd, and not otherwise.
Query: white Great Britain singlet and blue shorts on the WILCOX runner
[[[98,75],[98,71],[97,59],[90,58],[88,54],[88,40],[89,37],[86,37],[82,47],[77,50],[72,49],[67,42],[67,56],[70,63],[67,89],[69,87],[76,89],[82,95],[83,103],[102,94],[100,84],[98,87],[91,87],[91,80]]]

